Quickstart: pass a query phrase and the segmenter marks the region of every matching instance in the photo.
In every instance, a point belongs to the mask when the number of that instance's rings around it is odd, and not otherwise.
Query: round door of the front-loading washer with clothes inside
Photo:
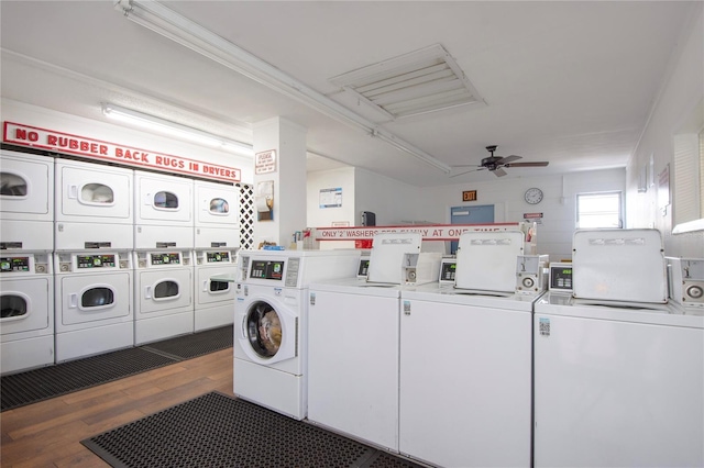
[[[298,356],[298,315],[266,297],[251,297],[238,313],[235,333],[250,360],[272,365]]]

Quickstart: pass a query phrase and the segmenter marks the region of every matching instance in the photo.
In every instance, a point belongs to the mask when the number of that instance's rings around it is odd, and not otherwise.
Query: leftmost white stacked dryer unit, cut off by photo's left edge
[[[0,158],[0,368],[54,364],[54,160]]]

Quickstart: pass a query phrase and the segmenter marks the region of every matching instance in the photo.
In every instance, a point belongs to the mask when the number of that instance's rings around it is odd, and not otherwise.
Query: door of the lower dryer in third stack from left
[[[190,268],[138,271],[140,315],[166,315],[193,308]]]

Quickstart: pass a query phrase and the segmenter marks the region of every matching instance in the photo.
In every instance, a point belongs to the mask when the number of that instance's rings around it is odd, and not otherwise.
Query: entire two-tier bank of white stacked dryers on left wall
[[[234,187],[2,151],[0,202],[2,374],[232,323]]]

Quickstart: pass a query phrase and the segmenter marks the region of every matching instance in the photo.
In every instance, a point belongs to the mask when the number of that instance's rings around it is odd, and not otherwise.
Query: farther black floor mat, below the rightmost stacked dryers
[[[190,359],[232,347],[232,325],[228,325],[191,335],[148,343],[142,347],[175,359]]]

